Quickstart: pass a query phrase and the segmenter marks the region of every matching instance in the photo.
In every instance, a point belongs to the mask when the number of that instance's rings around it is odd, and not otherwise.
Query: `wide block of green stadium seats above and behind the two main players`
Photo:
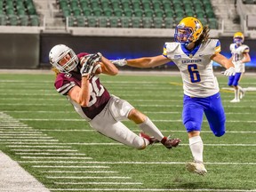
[[[64,21],[73,18],[69,27],[175,28],[182,18],[193,16],[218,28],[210,0],[57,0],[57,4]]]

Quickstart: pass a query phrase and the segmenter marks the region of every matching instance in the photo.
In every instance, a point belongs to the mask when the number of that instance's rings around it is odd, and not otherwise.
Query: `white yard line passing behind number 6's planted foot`
[[[79,161],[19,161],[22,164],[187,164],[187,162],[79,162]],[[221,165],[256,165],[256,163],[239,162],[204,162],[204,164]]]

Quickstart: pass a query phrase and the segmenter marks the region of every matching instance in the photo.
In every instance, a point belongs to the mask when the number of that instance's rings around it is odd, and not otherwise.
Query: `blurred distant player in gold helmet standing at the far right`
[[[241,32],[236,32],[233,36],[233,44],[230,44],[230,51],[232,53],[232,57],[230,60],[235,65],[236,75],[229,76],[228,86],[234,87],[235,90],[235,98],[234,100],[230,100],[230,102],[240,102],[240,99],[244,97],[244,90],[241,86],[239,86],[239,81],[244,75],[245,66],[244,63],[250,62],[251,57],[249,54],[249,47],[244,43],[244,35]]]

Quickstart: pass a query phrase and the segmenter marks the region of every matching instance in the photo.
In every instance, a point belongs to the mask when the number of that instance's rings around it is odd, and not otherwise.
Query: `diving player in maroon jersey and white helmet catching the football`
[[[64,44],[52,47],[49,60],[56,72],[55,88],[66,96],[76,112],[93,129],[127,146],[143,149],[160,141],[166,148],[177,147],[180,139],[164,137],[148,116],[133,108],[126,100],[110,95],[100,83],[100,73],[115,76],[118,69],[100,52],[76,55]],[[122,120],[132,120],[143,132],[140,136],[128,129]],[[145,132],[154,136],[149,137]]]

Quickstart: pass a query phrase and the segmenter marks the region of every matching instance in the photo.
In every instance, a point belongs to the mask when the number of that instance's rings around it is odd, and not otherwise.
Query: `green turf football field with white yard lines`
[[[160,144],[137,150],[94,132],[55,91],[53,74],[0,76],[0,149],[51,191],[256,191],[256,91],[230,103],[234,93],[220,90],[227,133],[214,137],[204,118],[208,174],[198,176],[185,169],[192,157],[180,76],[101,76],[108,91],[182,140],[172,150]],[[228,87],[227,77],[218,79]],[[256,75],[245,75],[241,85],[255,88]]]

